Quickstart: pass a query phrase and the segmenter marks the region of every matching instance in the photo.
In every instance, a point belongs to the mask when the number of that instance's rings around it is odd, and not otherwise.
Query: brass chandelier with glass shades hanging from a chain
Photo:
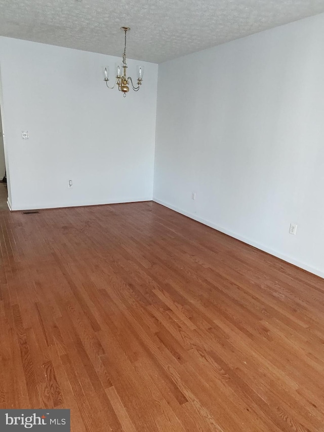
[[[121,67],[119,64],[116,65],[116,77],[115,77],[115,83],[112,87],[108,86],[109,81],[109,67],[105,67],[104,70],[104,81],[106,82],[106,86],[108,89],[113,89],[116,84],[118,86],[118,90],[120,92],[123,92],[124,97],[126,97],[126,93],[130,91],[130,85],[132,86],[133,90],[135,92],[138,92],[140,89],[140,86],[142,85],[143,81],[143,74],[144,74],[144,68],[143,66],[137,66],[137,86],[134,86],[133,80],[130,76],[126,77],[126,69],[127,69],[127,63],[126,63],[126,40],[127,40],[127,32],[130,30],[129,27],[120,27],[120,30],[124,30],[125,32],[125,46],[124,46],[124,53],[123,53],[123,61],[121,63]]]

